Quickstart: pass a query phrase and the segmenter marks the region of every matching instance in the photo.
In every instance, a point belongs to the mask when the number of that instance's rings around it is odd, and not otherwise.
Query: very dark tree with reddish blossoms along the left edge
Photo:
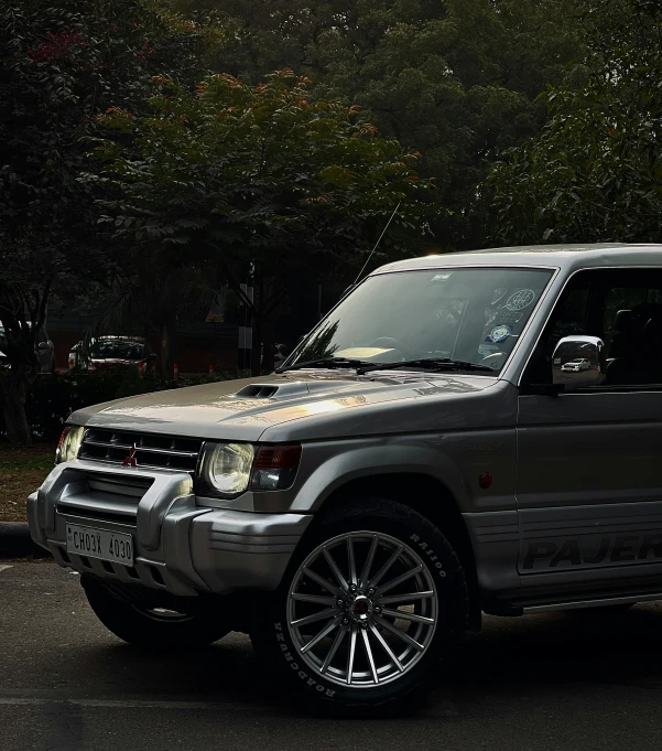
[[[77,181],[84,165],[89,170],[84,136],[100,109],[140,107],[152,75],[191,84],[219,34],[151,0],[2,6],[0,320],[10,367],[0,372],[0,409],[12,440],[30,440],[22,405],[36,376],[34,336],[57,280],[105,281],[117,270]]]

